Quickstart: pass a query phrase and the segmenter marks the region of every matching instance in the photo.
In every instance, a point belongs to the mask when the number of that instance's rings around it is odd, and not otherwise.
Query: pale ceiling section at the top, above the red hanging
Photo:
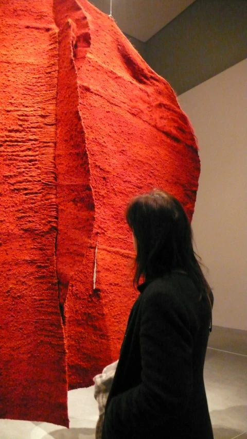
[[[122,32],[148,41],[195,0],[90,0],[112,16]]]

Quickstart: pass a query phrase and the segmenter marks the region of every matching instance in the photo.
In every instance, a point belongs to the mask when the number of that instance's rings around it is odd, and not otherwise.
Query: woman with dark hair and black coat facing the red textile
[[[132,199],[126,218],[140,295],[102,439],[213,439],[203,367],[214,297],[193,251],[190,223],[180,202],[161,190]]]

